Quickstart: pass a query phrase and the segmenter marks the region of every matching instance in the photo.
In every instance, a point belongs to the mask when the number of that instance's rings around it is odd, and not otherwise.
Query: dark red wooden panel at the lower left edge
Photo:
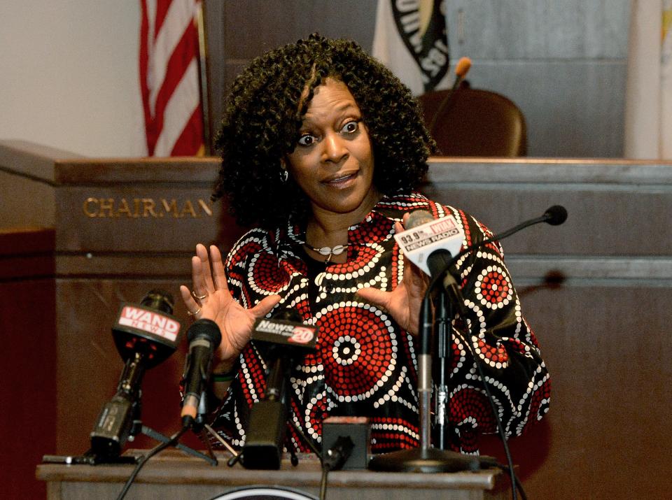
[[[54,230],[0,230],[0,483],[3,498],[40,498],[34,478],[57,432]]]

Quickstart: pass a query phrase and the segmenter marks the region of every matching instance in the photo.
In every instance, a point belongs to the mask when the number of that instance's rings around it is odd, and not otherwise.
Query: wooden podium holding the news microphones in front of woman
[[[205,500],[260,485],[319,497],[321,470],[314,457],[300,457],[296,467],[283,461],[279,471],[252,471],[240,465],[230,468],[226,465],[228,457],[221,455],[218,466],[209,466],[168,450],[148,461],[126,498]],[[47,482],[49,500],[113,499],[131,471],[132,466],[42,464],[37,477]],[[507,476],[497,469],[437,474],[336,471],[329,473],[326,498],[506,499],[510,497],[509,484]]]

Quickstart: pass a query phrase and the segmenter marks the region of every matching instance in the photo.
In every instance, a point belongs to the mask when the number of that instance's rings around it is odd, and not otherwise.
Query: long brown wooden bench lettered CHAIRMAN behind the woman
[[[0,252],[0,334],[16,367],[0,390],[20,412],[2,413],[0,445],[27,457],[0,454],[8,485],[32,480],[41,455],[87,449],[123,366],[110,331],[120,301],[164,288],[187,321],[177,293],[190,283],[195,244],[227,250],[242,231],[209,205],[216,158],[73,156],[0,141],[0,227],[48,228],[0,238],[9,242]],[[503,242],[553,386],[549,415],[510,441],[528,495],[664,497],[672,162],[433,158],[422,189],[493,231],[554,204],[568,209],[562,226],[538,225]],[[144,422],[162,434],[179,427],[183,359],[176,352],[144,381]],[[503,462],[496,439],[485,437],[481,449]]]

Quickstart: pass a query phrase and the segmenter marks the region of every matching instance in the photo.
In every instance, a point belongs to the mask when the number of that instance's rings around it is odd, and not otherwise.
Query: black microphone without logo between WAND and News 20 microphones
[[[196,320],[187,331],[189,353],[182,376],[184,399],[182,403],[182,425],[193,427],[196,421],[202,393],[210,378],[212,356],[222,341],[222,334],[216,322]]]

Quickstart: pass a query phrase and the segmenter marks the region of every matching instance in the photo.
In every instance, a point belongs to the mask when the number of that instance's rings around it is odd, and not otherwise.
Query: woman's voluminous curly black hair
[[[255,58],[225,101],[212,198],[224,197],[239,224],[274,229],[289,216],[307,220],[306,195],[291,178],[280,182],[281,159],[294,150],[302,116],[325,78],[345,83],[362,112],[379,192],[410,190],[426,173],[436,145],[408,88],[355,42],[312,34]]]

